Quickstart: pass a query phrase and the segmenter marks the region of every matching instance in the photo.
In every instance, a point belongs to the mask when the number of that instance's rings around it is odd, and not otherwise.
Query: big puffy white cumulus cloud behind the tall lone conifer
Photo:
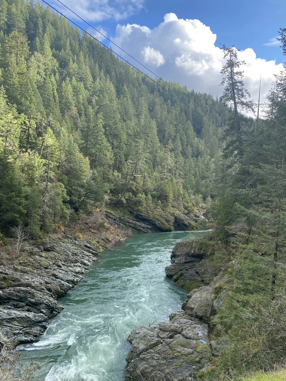
[[[138,24],[117,25],[113,40],[160,77],[186,85],[189,90],[220,96],[224,59],[223,51],[214,45],[216,38],[201,21],[178,19],[175,13],[168,13],[154,29]],[[132,62],[128,56],[123,57]],[[251,48],[239,51],[238,58],[246,61],[243,80],[254,102],[258,101],[261,74],[260,101],[264,102],[274,74],[279,74],[283,65],[257,58]]]

